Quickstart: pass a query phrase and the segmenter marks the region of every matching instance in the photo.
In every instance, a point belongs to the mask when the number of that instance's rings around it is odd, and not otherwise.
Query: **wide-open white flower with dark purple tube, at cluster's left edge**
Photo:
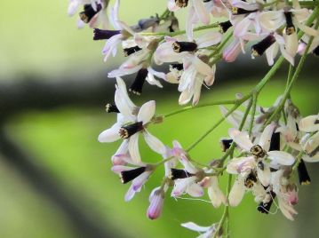
[[[117,116],[117,122],[108,130],[100,133],[99,141],[113,142],[118,139],[127,140],[132,161],[140,163],[139,135],[141,133],[148,146],[156,153],[163,155],[165,152],[163,143],[146,129],[148,123],[150,123],[155,115],[156,102],[152,100],[143,104],[136,115],[134,108],[132,108],[132,101],[127,95],[125,83],[121,78],[116,78],[116,80],[115,102],[120,113]]]

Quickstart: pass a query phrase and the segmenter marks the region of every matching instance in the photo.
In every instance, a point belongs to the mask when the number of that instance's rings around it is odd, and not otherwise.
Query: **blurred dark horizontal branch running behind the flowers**
[[[248,55],[244,58],[249,58]],[[238,60],[235,63],[220,63],[216,81],[213,87],[231,83],[232,81],[243,78],[258,79],[267,72],[267,62],[264,58],[253,60]],[[248,63],[247,63],[248,62]],[[314,68],[316,61],[310,60],[307,68]],[[229,70],[231,66],[231,70]],[[167,67],[165,67],[167,68]],[[283,67],[283,71],[285,71]],[[163,68],[162,68],[163,69]],[[304,72],[307,72],[305,70]],[[130,81],[130,79],[128,79]],[[116,82],[113,78],[107,77],[107,72],[90,77],[79,76],[70,78],[66,76],[63,79],[43,79],[35,77],[26,77],[15,81],[5,81],[0,83],[0,118],[6,119],[12,115],[20,114],[29,110],[47,110],[56,107],[100,107],[104,106],[114,99]],[[130,82],[131,83],[131,82]],[[130,85],[130,83],[127,83]],[[156,86],[150,86],[145,83],[142,97],[160,94],[171,91],[171,94],[179,97],[176,85],[163,83],[165,91]],[[173,91],[173,92],[172,92]],[[204,91],[204,89],[203,89]]]

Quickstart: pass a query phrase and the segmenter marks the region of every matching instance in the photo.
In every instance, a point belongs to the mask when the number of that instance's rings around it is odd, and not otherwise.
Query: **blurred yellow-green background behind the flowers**
[[[137,10],[141,17],[161,13],[166,1],[122,1],[121,4],[120,15],[133,24],[139,17]],[[81,75],[90,81],[92,75],[100,74],[103,80],[110,82],[105,88],[106,101],[112,100],[114,81],[106,75],[108,69],[116,67],[120,60],[113,59],[108,64],[102,61],[100,51],[104,43],[92,41],[91,29],[76,29],[76,18],[67,16],[67,0],[6,1],[1,5],[8,10],[0,15],[0,76],[3,85],[33,77],[60,83],[65,78],[76,80]],[[314,60],[309,59],[310,63]],[[261,62],[266,64],[265,59]],[[250,61],[243,72],[238,72],[238,75],[246,76],[229,78],[229,83],[219,82],[219,76],[223,75],[218,73],[216,85],[210,91],[203,89],[201,102],[232,99],[235,92],[250,91],[260,78],[251,76],[256,70],[252,63]],[[319,108],[315,84],[318,69],[309,70],[310,63],[307,62],[308,69],[301,73],[292,91],[302,115],[315,114]],[[285,65],[281,73],[286,69]],[[284,83],[283,75],[276,75],[261,94],[259,104],[264,107],[271,105],[283,92]],[[179,108],[179,93],[175,88],[165,94],[154,87],[147,86],[147,89],[152,91],[146,90],[141,98],[133,97],[138,105],[156,99],[157,114]],[[5,103],[1,102],[3,116]],[[182,228],[180,223],[194,221],[209,226],[219,221],[222,208],[214,209],[211,204],[201,201],[176,201],[169,194],[162,217],[149,220],[146,217],[148,195],[159,186],[163,171],[156,171],[132,202],[124,202],[129,185],[122,185],[110,171],[110,157],[119,142],[100,144],[97,141],[100,131],[111,126],[116,117],[105,114],[100,105],[25,110],[4,121],[4,133],[20,148],[22,155],[27,155],[28,163],[36,168],[36,173],[26,164],[19,167],[12,163],[10,156],[0,151],[0,237],[195,237],[195,233]],[[188,147],[220,116],[218,107],[196,109],[168,118],[164,123],[150,127],[150,131],[166,145],[171,146],[171,141],[178,139]],[[195,147],[191,155],[201,162],[222,155],[219,138],[225,136],[228,127],[229,124],[223,123]],[[140,151],[146,161],[161,160],[143,143],[140,143]],[[15,151],[13,149],[13,154]],[[275,215],[260,214],[256,210],[257,204],[247,194],[237,208],[230,209],[231,236],[317,237],[319,186],[316,181],[319,176],[316,170],[319,167],[311,165],[308,168],[313,183],[299,190],[299,215],[295,221],[284,218],[280,210]],[[225,191],[225,181],[221,181],[221,186]],[[207,200],[207,195],[203,199]],[[275,212],[275,206],[273,210]]]

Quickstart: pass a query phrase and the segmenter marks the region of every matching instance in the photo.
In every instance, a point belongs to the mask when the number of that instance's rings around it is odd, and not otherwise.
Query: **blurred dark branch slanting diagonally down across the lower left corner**
[[[101,223],[99,214],[93,214],[92,210],[82,210],[76,205],[79,196],[76,194],[65,193],[50,176],[50,172],[40,168],[33,163],[34,159],[26,155],[5,133],[0,129],[0,153],[6,163],[11,164],[21,176],[27,178],[32,186],[42,193],[46,198],[57,204],[68,217],[70,224],[78,237],[87,238],[107,238],[124,237],[114,234],[113,228],[108,228],[107,224]],[[81,199],[83,200],[83,199]],[[82,201],[83,202],[83,201]]]

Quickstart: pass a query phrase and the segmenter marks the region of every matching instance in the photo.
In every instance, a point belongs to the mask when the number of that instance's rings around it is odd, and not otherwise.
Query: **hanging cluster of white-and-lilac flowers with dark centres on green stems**
[[[317,1],[304,7],[297,0],[169,0],[162,15],[140,19],[133,25],[119,19],[119,0],[112,6],[108,0],[70,0],[68,13],[74,15],[79,7],[83,7],[83,12],[79,12],[78,26],[87,23],[93,28],[93,40],[105,41],[104,61],[111,56],[125,58],[108,73],[108,77],[116,78],[116,92],[114,103],[108,103],[106,111],[116,113],[116,123],[99,136],[100,142],[123,141],[112,156],[112,171],[124,184],[132,183],[125,201],[132,200],[163,165],[163,181],[149,195],[148,218],[161,215],[168,193],[174,198],[208,194],[214,207],[225,206],[227,216],[229,206],[237,206],[244,194],[251,192],[259,212],[268,214],[272,204],[277,204],[286,218],[293,219],[297,214],[294,205],[299,202],[295,175],[298,174],[300,185],[309,184],[306,163],[319,161],[319,115],[302,117],[291,99],[299,67],[308,53],[319,52]],[[184,9],[186,28],[179,30],[175,12]],[[220,21],[211,22],[212,19]],[[220,121],[203,137],[184,149],[176,140],[172,147],[165,146],[148,131],[149,126],[163,123],[168,116],[195,108],[202,86],[208,88],[215,81],[216,63],[235,61],[249,45],[251,58],[265,53],[272,68],[250,93],[203,105],[219,105],[221,113]],[[282,57],[275,62],[278,52]],[[298,54],[302,58],[295,69]],[[259,93],[283,59],[290,63],[287,87],[271,107],[260,107]],[[155,65],[163,65],[166,70],[156,71]],[[122,77],[132,74],[136,76],[127,89]],[[146,81],[160,88],[164,82],[178,84],[179,105],[191,102],[192,106],[169,115],[156,115],[154,100],[136,106],[130,94],[140,95]],[[223,121],[232,125],[227,137],[220,139],[224,154],[208,163],[196,162],[189,151]],[[146,163],[141,158],[140,135],[162,158],[158,163]],[[229,185],[235,177],[226,191],[219,188],[219,178],[224,175],[228,175]],[[228,232],[223,230],[224,221],[223,216],[211,226],[192,222],[182,226],[203,237],[221,237]]]

